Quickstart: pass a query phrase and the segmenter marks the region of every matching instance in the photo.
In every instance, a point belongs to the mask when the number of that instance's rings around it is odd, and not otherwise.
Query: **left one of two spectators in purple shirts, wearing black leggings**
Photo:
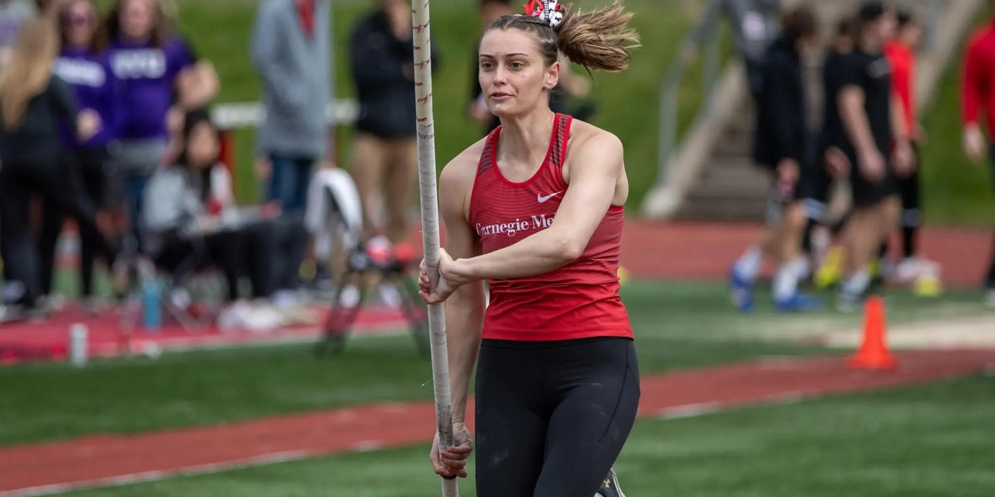
[[[100,130],[89,140],[80,141],[63,126],[63,177],[71,181],[76,195],[93,203],[98,210],[107,207],[104,192],[110,154],[108,144],[116,139],[120,94],[118,82],[110,73],[106,52],[95,44],[99,18],[92,0],[67,0],[58,16],[62,52],[56,59],[55,74],[69,83],[80,107],[100,117]],[[62,233],[66,212],[54,204],[44,206],[39,257],[42,293],[51,296],[56,245]],[[94,295],[94,259],[100,241],[82,236],[80,240],[81,295],[84,306],[97,310]]]

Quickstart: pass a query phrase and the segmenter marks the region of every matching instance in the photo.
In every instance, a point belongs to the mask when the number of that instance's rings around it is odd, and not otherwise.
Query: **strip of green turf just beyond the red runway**
[[[826,312],[743,317],[721,284],[631,283],[630,309],[644,374],[765,355],[829,354],[774,331],[851,328],[860,316]],[[760,298],[760,309],[766,309]],[[981,312],[976,293],[919,300],[896,294],[892,322]],[[783,335],[779,335],[783,336]],[[0,445],[94,432],[138,432],[298,413],[374,401],[430,400],[431,369],[408,336],[355,339],[338,358],[317,361],[306,346],[166,354],[158,361],[0,368]]]

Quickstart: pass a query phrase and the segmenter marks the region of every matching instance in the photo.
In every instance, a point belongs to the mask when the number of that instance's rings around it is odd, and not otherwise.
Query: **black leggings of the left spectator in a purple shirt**
[[[110,155],[106,148],[74,148],[67,150],[63,163],[65,177],[71,178],[77,196],[87,199],[98,209],[105,205],[107,184],[106,163]],[[42,231],[38,236],[39,278],[42,294],[52,293],[56,245],[62,234],[66,211],[58,204],[46,202],[42,214]],[[94,260],[100,251],[100,240],[80,235],[81,294],[94,294]]]

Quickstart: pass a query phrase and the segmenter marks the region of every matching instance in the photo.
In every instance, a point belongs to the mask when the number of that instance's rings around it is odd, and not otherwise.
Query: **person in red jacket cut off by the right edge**
[[[995,0],[989,1],[995,12]],[[974,162],[985,155],[985,136],[981,130],[981,114],[988,119],[988,141],[995,141],[995,18],[971,35],[964,51],[964,71],[961,81],[961,103],[964,124],[964,151]],[[995,148],[988,147],[989,164],[995,176]],[[992,262],[985,277],[987,301],[995,308],[995,242]]]

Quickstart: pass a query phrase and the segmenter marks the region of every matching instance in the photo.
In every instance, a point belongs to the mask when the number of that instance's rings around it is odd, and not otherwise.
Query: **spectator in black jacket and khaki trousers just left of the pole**
[[[380,8],[352,30],[350,64],[360,111],[352,139],[352,178],[359,189],[366,238],[378,227],[379,190],[386,204],[386,236],[394,244],[408,239],[408,212],[418,177],[414,41],[411,7],[405,0],[379,0]],[[429,55],[432,71],[439,55]],[[419,61],[421,62],[421,61]]]

